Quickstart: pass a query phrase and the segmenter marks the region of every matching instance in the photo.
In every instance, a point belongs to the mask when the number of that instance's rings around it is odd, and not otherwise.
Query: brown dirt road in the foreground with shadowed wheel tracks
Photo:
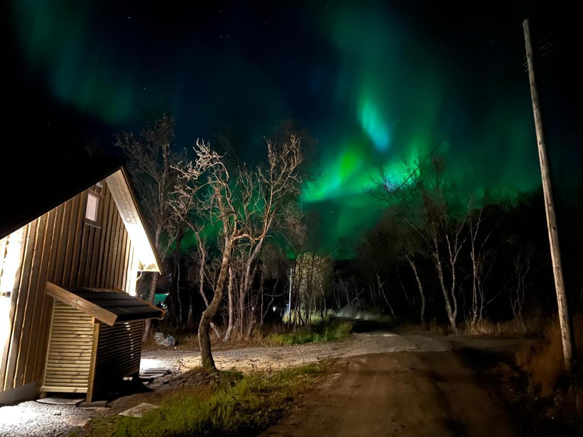
[[[347,358],[269,436],[512,436],[497,401],[451,350]]]

